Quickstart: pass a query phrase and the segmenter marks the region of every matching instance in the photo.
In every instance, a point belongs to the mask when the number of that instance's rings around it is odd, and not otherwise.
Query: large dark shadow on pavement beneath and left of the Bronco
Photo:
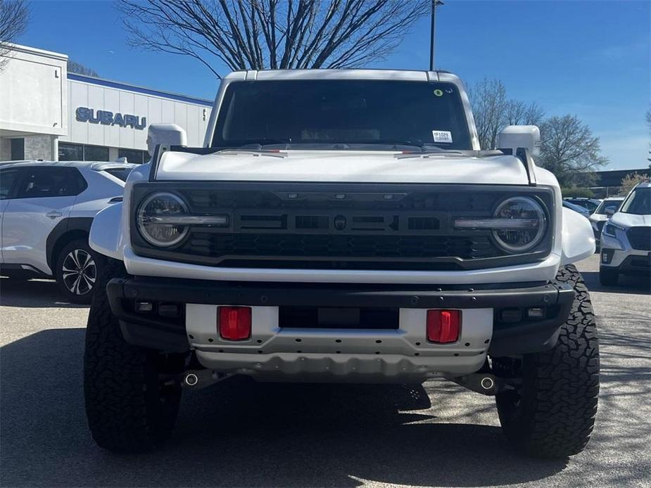
[[[426,383],[431,406],[422,385],[239,378],[188,392],[159,451],[116,456],[87,430],[83,341],[83,329],[57,329],[1,348],[2,486],[491,486],[541,480],[567,464],[522,458],[498,427],[437,421],[463,398],[456,385]],[[488,409],[479,402],[461,418]]]

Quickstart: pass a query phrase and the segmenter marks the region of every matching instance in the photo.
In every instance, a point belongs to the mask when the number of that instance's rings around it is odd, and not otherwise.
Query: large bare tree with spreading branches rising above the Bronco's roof
[[[427,0],[120,0],[129,42],[231,70],[351,68],[384,59]]]

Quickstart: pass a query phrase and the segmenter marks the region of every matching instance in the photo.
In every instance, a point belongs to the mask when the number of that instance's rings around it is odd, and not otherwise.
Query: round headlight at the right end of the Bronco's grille
[[[507,198],[500,203],[493,217],[505,219],[501,229],[493,230],[493,236],[498,244],[509,252],[530,250],[540,243],[545,235],[545,211],[533,198]]]

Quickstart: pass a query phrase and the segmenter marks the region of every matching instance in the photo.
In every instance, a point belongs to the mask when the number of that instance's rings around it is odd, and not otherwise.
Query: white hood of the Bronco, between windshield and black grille
[[[528,183],[513,156],[476,158],[459,154],[403,155],[395,151],[228,151],[210,155],[167,152],[157,180],[333,181],[365,183]]]

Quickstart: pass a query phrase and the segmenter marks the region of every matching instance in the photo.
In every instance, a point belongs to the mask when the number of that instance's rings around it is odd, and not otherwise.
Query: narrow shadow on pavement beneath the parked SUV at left
[[[0,278],[0,306],[3,307],[72,307],[84,308],[66,302],[58,293],[53,280],[15,280]]]

